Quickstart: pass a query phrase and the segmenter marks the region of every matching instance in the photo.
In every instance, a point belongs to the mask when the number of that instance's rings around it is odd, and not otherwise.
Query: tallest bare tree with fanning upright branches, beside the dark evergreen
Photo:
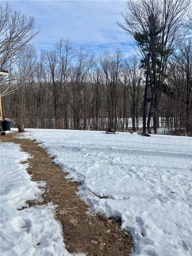
[[[118,23],[132,37],[148,67],[155,133],[167,61],[185,37],[183,22],[188,6],[186,0],[130,0],[121,13],[124,24]]]

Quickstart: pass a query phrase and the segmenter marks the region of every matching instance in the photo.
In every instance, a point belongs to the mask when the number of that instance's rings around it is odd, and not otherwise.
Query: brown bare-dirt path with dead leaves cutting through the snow
[[[78,182],[65,179],[67,173],[51,161],[46,151],[35,141],[14,138],[15,134],[1,136],[2,142],[20,144],[23,151],[28,152],[28,173],[32,181],[46,181],[43,194],[44,202],[52,201],[57,207],[57,219],[63,226],[63,236],[67,250],[83,252],[89,256],[128,256],[133,248],[132,237],[120,230],[120,221],[104,215],[88,215],[90,207],[76,195]],[[28,202],[29,206],[39,202]],[[110,232],[109,232],[110,230]]]

